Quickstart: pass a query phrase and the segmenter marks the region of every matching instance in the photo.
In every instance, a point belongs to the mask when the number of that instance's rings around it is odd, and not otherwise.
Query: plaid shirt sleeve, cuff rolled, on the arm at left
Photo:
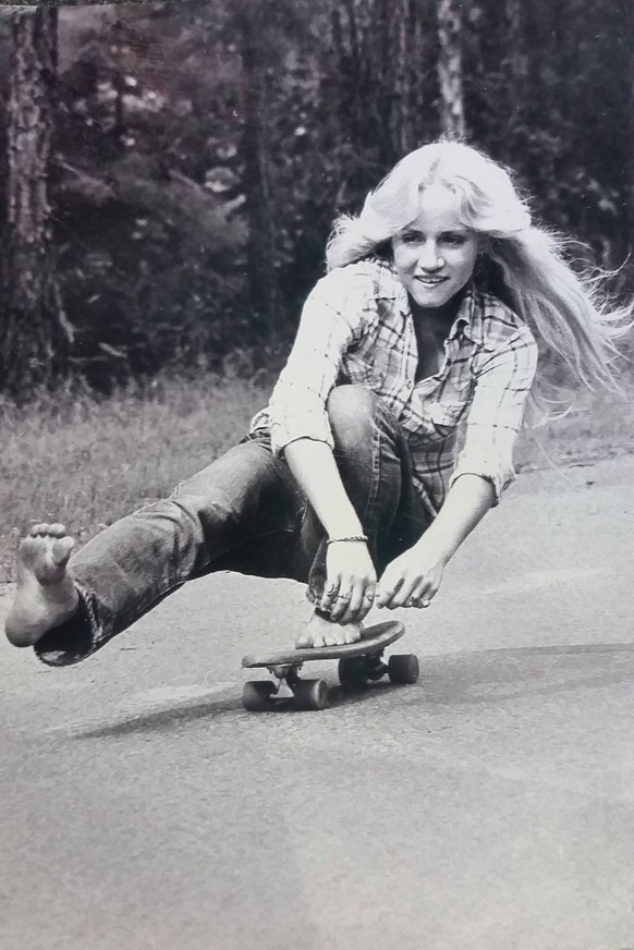
[[[371,275],[359,267],[331,271],[309,294],[300,328],[268,405],[276,454],[296,439],[333,447],[326,400],[343,356],[371,320]]]

